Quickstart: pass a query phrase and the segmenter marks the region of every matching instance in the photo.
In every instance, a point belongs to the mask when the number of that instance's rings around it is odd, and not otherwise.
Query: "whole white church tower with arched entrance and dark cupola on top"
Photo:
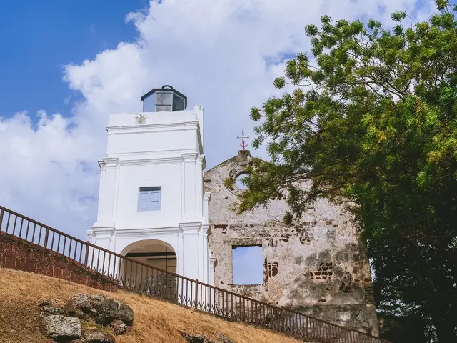
[[[171,86],[143,112],[111,114],[93,244],[201,282],[213,282],[204,194],[203,114]]]

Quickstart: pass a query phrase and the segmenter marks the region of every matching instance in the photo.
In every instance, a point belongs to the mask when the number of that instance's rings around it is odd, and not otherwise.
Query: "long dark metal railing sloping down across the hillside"
[[[166,270],[151,267],[72,237],[0,206],[0,231],[62,254],[105,275],[120,288],[160,297],[223,319],[265,327],[323,343],[389,343],[300,312],[243,297]]]

